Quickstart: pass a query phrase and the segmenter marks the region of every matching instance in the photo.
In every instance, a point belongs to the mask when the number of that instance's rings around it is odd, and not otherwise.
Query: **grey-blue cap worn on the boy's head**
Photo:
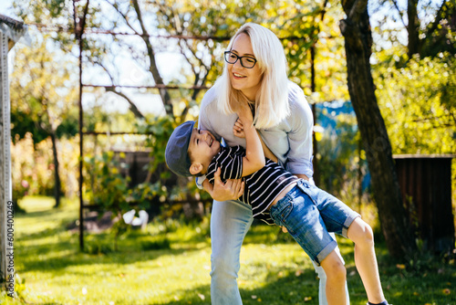
[[[186,121],[179,125],[171,133],[170,140],[166,144],[165,159],[166,164],[171,169],[172,173],[181,176],[191,176],[189,153],[189,142],[192,136],[193,126],[195,121]]]

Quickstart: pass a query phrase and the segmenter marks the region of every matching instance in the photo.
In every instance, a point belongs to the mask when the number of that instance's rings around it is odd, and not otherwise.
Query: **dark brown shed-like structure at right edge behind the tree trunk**
[[[456,155],[399,154],[396,163],[402,200],[424,249],[443,253],[454,249],[451,203],[451,160]]]

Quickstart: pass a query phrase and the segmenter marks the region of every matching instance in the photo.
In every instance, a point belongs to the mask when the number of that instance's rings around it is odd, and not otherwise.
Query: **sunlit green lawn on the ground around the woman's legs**
[[[32,304],[210,304],[209,221],[184,225],[153,223],[133,231],[113,252],[109,233],[86,236],[90,253],[78,249],[78,234],[66,227],[78,218],[78,202],[53,209],[46,197],[19,203],[27,211],[15,217],[16,273],[23,302]],[[99,248],[96,245],[101,245]],[[354,267],[353,246],[339,245],[347,262],[351,304],[366,304]],[[454,259],[423,256],[413,267],[390,259],[377,244],[382,283],[395,305],[456,304]],[[106,253],[106,254],[104,254]],[[318,281],[304,251],[277,227],[253,226],[241,253],[239,287],[244,304],[317,304]],[[12,301],[5,294],[0,303]]]

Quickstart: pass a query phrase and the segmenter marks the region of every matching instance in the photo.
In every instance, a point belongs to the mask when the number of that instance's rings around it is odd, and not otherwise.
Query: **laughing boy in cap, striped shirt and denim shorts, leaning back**
[[[194,129],[194,121],[186,121],[172,132],[166,147],[166,163],[171,171],[182,176],[205,174],[212,184],[219,168],[222,180],[243,177],[244,195],[239,200],[252,205],[254,218],[285,226],[307,255],[325,269],[326,299],[330,305],[347,304],[347,270],[335,252],[337,243],[328,232],[351,239],[368,304],[387,305],[370,226],[336,197],[265,159],[264,153],[273,160],[275,156],[260,140],[252,112],[246,106],[237,112],[239,120],[233,133],[245,138],[245,149],[222,147],[211,132]]]

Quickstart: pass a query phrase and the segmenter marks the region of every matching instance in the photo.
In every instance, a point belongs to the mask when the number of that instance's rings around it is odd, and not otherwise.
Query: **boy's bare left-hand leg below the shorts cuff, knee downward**
[[[347,269],[344,262],[333,250],[321,261],[326,273],[326,300],[328,304],[347,304],[346,281]]]

